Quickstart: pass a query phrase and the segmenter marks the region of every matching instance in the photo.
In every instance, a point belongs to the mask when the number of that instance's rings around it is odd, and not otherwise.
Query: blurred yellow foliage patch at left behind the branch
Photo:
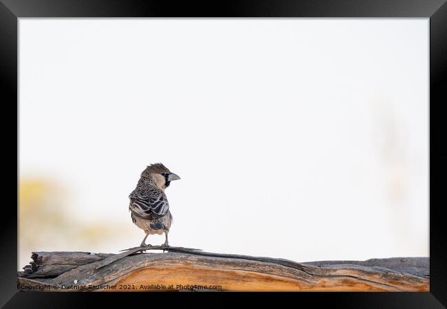
[[[68,190],[51,179],[21,179],[19,183],[19,265],[30,262],[32,251],[97,252],[116,245],[131,227],[121,222],[76,219]],[[117,248],[123,249],[123,248]]]

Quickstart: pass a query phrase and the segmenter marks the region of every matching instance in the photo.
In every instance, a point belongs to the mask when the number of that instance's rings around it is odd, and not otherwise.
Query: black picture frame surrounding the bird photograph
[[[18,160],[18,19],[21,17],[424,17],[430,19],[430,292],[428,293],[256,293],[258,300],[265,297],[285,297],[284,301],[327,302],[340,308],[444,308],[447,306],[447,255],[446,235],[442,208],[447,205],[446,194],[439,187],[447,173],[446,152],[436,151],[443,144],[442,137],[436,138],[445,127],[440,113],[447,102],[447,3],[446,0],[246,0],[246,1],[150,1],[150,0],[0,0],[0,76],[3,119],[14,118],[15,139],[10,141],[8,153]],[[8,109],[8,111],[6,110]],[[14,122],[14,119],[12,122]],[[2,122],[3,135],[8,135],[13,126]],[[442,134],[442,133],[441,133]],[[12,135],[11,135],[12,136]],[[11,151],[17,149],[17,152]],[[436,155],[439,155],[437,159]],[[14,161],[14,159],[12,159]],[[8,166],[13,166],[7,163]],[[14,169],[14,168],[12,168]],[[11,172],[18,183],[17,169]],[[9,174],[8,174],[9,176]],[[3,175],[5,179],[6,176]],[[9,177],[3,187],[10,183]],[[6,190],[8,196],[18,193],[18,185]],[[5,308],[71,308],[88,306],[100,299],[116,304],[116,293],[40,293],[18,292],[17,290],[17,196],[14,203],[3,205],[3,232],[1,233],[1,280],[0,305]],[[166,301],[166,294],[118,293],[120,299],[135,301]],[[135,294],[138,294],[135,295]],[[189,299],[192,294],[179,293]],[[234,304],[240,293],[200,293],[201,297],[218,297],[219,304]],[[252,293],[249,293],[252,294]],[[178,294],[177,294],[178,295]],[[238,296],[239,297],[239,296]],[[131,300],[132,298],[132,300]],[[171,295],[167,297],[171,299]],[[196,298],[196,297],[195,297]],[[277,300],[276,300],[277,301]],[[283,300],[281,300],[283,301]],[[142,304],[135,306],[142,306]],[[152,303],[155,304],[155,303]],[[217,304],[217,303],[215,303]],[[160,304],[157,304],[159,306]],[[162,304],[161,304],[162,305]]]

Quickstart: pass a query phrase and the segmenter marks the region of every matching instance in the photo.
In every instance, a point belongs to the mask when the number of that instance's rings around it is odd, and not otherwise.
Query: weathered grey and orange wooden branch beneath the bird
[[[145,247],[144,250],[165,249]],[[428,291],[428,258],[297,263],[169,247],[167,253],[34,252],[21,290]]]

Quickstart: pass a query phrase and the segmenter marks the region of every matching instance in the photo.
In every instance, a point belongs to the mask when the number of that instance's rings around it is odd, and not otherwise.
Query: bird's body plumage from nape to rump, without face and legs
[[[167,169],[166,169],[167,170]],[[169,230],[172,222],[169,203],[151,174],[142,173],[135,190],[129,194],[129,210],[133,223],[145,231]]]

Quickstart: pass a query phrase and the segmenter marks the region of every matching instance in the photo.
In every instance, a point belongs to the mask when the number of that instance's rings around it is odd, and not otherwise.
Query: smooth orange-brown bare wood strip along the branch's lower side
[[[182,285],[220,286],[217,290],[227,291],[428,291],[428,279],[418,284],[389,283],[380,284],[356,277],[318,278],[312,282],[305,282],[257,271],[215,269],[193,265],[142,268],[113,282],[118,285],[128,284],[134,286],[135,290],[143,291],[151,290],[145,287],[151,284],[173,286],[173,290],[182,290],[177,287],[177,285]]]

